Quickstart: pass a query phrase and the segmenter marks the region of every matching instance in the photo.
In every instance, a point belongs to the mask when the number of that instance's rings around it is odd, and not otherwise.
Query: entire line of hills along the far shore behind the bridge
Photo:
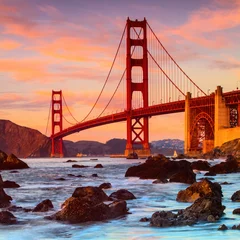
[[[78,153],[86,155],[123,154],[126,139],[111,139],[106,143],[97,141],[64,140],[64,155],[74,157]],[[9,120],[0,120],[0,149],[18,157],[49,157],[51,139],[35,129],[19,126]],[[164,139],[151,143],[152,153],[173,155],[174,150],[183,152],[183,141]]]

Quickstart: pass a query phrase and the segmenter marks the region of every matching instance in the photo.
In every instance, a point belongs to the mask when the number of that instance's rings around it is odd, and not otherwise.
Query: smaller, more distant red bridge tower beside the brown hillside
[[[52,91],[52,136],[56,132],[61,132],[62,129],[62,91]],[[62,138],[55,139],[51,137],[51,139],[51,157],[63,157]]]

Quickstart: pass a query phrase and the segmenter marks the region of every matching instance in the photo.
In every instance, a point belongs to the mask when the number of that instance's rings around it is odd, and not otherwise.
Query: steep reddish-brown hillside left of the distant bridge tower
[[[0,149],[18,157],[47,157],[50,139],[37,130],[19,126],[9,120],[0,120]]]

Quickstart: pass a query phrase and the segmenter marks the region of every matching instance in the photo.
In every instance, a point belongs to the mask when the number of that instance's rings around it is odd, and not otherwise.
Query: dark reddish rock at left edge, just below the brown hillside
[[[22,160],[18,159],[13,154],[10,154],[7,158],[2,158],[0,160],[0,170],[12,170],[24,168],[29,168],[29,166]]]

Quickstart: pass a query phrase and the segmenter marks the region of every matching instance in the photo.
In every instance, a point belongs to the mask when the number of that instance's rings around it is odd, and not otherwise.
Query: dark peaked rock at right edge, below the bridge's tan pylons
[[[226,162],[216,164],[209,169],[211,174],[225,174],[238,172],[238,161],[232,156],[228,155]]]

